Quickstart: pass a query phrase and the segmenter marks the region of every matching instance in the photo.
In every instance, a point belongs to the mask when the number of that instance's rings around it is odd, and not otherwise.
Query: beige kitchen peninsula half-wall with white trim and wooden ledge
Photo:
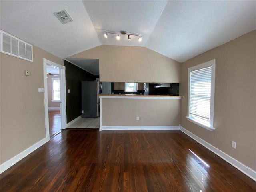
[[[178,129],[182,96],[99,95],[100,131]]]

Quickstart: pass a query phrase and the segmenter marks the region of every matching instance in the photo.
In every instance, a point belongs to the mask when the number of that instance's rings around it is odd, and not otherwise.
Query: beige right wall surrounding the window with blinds
[[[186,120],[188,67],[216,59],[214,127]],[[256,30],[182,63],[181,126],[256,170]],[[236,142],[236,149],[231,147]]]

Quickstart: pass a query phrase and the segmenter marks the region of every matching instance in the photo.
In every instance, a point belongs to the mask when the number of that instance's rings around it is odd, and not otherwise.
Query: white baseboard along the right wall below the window
[[[190,136],[192,139],[196,140],[198,143],[200,143],[202,146],[206,147],[209,149],[211,152],[215,153],[218,155],[220,158],[246,174],[248,177],[252,178],[254,181],[256,181],[256,171],[252,170],[250,167],[242,164],[238,160],[234,159],[233,157],[229,156],[228,154],[224,153],[223,151],[219,150],[218,148],[212,146],[210,143],[202,140],[192,132],[186,130],[182,126],[180,126],[180,130],[184,132],[186,135]]]

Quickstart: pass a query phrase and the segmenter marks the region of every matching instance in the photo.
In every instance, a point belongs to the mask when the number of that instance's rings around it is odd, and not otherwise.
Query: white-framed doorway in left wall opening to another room
[[[46,137],[66,128],[65,67],[44,59],[44,108]]]

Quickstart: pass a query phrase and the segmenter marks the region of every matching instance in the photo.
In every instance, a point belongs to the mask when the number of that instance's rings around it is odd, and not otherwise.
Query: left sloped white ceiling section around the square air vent
[[[73,22],[62,24],[53,14],[65,9]],[[0,1],[2,30],[60,58],[101,43],[82,1]]]

